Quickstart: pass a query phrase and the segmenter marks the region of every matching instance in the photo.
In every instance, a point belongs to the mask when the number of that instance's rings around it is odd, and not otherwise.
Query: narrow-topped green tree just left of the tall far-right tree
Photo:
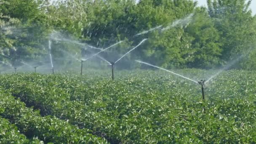
[[[193,37],[191,48],[183,57],[189,67],[208,69],[221,63],[221,32],[214,27],[214,21],[205,8],[197,8],[185,31]]]

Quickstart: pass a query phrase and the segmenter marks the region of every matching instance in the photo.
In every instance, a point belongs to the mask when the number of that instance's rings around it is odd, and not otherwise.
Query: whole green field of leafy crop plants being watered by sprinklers
[[[184,69],[194,80],[214,72]],[[255,143],[256,72],[0,76],[0,144]]]

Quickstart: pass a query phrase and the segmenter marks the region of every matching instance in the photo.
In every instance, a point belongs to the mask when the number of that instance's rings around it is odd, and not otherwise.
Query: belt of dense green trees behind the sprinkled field
[[[162,67],[213,68],[248,53],[237,68],[256,69],[256,17],[248,9],[251,0],[208,0],[208,8],[193,0],[2,0],[0,2],[1,61],[39,61],[47,56],[48,39],[60,31],[81,43],[106,48],[124,43],[103,53],[117,59],[145,37],[148,41],[125,57],[143,59]],[[192,13],[192,14],[191,14]],[[190,17],[189,17],[190,16]],[[149,33],[134,35],[157,26]],[[51,38],[56,38],[52,36]],[[81,45],[70,41],[54,42],[56,58],[80,53]],[[249,49],[253,50],[249,50]],[[94,53],[89,51],[86,53]],[[118,54],[119,53],[119,54]],[[80,56],[80,54],[79,54]],[[60,64],[67,64],[61,62]]]

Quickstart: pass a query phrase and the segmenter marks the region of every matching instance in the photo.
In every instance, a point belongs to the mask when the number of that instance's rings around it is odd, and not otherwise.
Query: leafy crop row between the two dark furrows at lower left
[[[79,129],[67,121],[53,116],[41,117],[39,111],[27,108],[23,102],[7,92],[0,92],[0,109],[0,115],[15,123],[19,131],[29,139],[37,137],[45,143],[107,143],[106,140],[92,135],[91,131]],[[16,130],[17,128],[13,129]],[[22,143],[26,143],[25,137],[23,138]]]

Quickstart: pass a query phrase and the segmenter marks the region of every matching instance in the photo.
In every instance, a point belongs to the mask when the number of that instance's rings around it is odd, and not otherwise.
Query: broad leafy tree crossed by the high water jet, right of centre
[[[195,4],[191,0],[141,0],[138,4],[136,26],[138,29],[150,29],[162,26],[155,32],[141,35],[148,37],[149,43],[139,49],[141,59],[162,67],[185,67],[182,56],[192,41],[184,32],[191,20]],[[190,15],[189,15],[190,14]]]

